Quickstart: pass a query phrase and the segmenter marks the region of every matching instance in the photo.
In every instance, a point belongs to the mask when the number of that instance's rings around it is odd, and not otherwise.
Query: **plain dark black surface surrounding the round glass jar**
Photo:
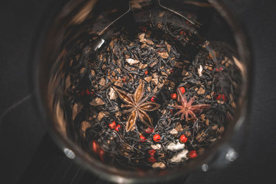
[[[106,183],[63,155],[34,105],[33,43],[43,17],[63,1],[0,3],[0,183]],[[186,183],[275,183],[276,6],[273,0],[226,3],[244,26],[252,49],[249,133],[235,162],[221,170],[192,173]]]

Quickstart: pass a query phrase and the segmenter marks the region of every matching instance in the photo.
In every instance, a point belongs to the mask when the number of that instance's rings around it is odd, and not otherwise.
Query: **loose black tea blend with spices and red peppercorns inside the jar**
[[[175,167],[220,139],[239,97],[239,61],[193,26],[149,21],[117,28],[97,52],[97,36],[76,45],[66,65],[72,139],[128,169]]]

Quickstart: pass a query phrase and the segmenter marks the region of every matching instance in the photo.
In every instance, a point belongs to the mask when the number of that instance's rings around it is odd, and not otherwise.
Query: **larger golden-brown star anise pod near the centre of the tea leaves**
[[[126,103],[122,104],[121,108],[129,108],[128,110],[123,110],[123,114],[130,113],[128,121],[126,122],[126,132],[134,129],[137,119],[145,125],[152,127],[152,119],[146,112],[157,110],[160,105],[158,103],[146,101],[148,96],[143,99],[145,93],[144,82],[139,84],[134,94],[128,94],[127,92],[117,88],[114,89],[119,98]]]

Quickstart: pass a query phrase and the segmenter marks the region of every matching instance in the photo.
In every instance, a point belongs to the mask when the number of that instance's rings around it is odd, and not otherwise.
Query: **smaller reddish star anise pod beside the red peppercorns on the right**
[[[206,110],[210,108],[211,105],[209,104],[197,104],[197,105],[192,105],[195,102],[195,96],[190,99],[190,101],[187,102],[185,94],[183,94],[179,88],[177,88],[177,101],[181,103],[181,105],[175,105],[174,108],[179,109],[179,112],[177,114],[181,114],[181,120],[186,119],[188,121],[188,116],[194,117],[197,119],[197,116],[195,113],[197,112],[202,112],[203,110]]]

